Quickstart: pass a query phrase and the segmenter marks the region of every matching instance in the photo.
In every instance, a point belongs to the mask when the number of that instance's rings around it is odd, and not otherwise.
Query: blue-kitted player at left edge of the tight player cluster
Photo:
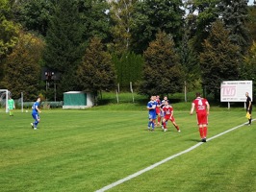
[[[147,109],[148,109],[148,131],[150,131],[150,127],[152,127],[152,131],[155,129],[155,120],[157,118],[156,113],[156,96],[151,96],[150,101],[147,103]]]

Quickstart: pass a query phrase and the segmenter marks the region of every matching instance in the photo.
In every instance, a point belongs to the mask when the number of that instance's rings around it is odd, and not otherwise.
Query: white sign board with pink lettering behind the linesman
[[[245,102],[245,92],[252,100],[252,81],[227,81],[220,84],[220,102]]]

